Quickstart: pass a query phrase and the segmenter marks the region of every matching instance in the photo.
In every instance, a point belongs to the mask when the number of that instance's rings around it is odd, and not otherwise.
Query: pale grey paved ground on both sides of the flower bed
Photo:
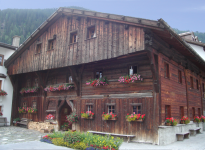
[[[0,150],[15,150],[15,149],[45,149],[45,150],[58,150],[71,148],[55,146],[40,142],[41,136],[46,133],[40,133],[38,131],[29,130],[20,127],[0,127]],[[151,149],[163,149],[163,150],[205,150],[205,132],[203,134],[197,134],[195,137],[185,139],[184,141],[177,141],[173,144],[166,146],[158,146],[151,144],[140,143],[123,143],[120,146],[120,150],[151,150]]]

